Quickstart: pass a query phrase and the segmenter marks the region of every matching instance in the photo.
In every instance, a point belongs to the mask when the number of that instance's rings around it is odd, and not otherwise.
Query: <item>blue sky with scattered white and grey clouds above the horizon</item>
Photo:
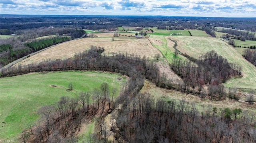
[[[256,17],[256,0],[0,0],[0,14]]]

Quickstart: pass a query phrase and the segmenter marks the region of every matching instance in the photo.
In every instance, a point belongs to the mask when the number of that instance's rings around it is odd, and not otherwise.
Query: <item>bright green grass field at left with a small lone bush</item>
[[[38,119],[37,110],[42,106],[55,104],[61,96],[74,97],[80,92],[100,87],[103,82],[120,90],[126,78],[118,80],[118,77],[122,76],[108,72],[65,71],[1,78],[0,139],[18,139],[19,133],[28,128],[27,123]],[[69,92],[66,89],[70,82],[74,90]]]

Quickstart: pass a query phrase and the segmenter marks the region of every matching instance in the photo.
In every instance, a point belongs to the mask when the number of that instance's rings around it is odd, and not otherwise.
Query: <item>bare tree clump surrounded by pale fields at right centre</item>
[[[193,92],[193,88],[198,87],[197,92],[201,94],[204,85],[218,86],[218,89],[222,89],[216,94],[218,96],[209,92],[211,98],[216,99],[225,97],[220,94],[225,92],[220,83],[226,82],[232,76],[241,76],[242,71],[242,67],[235,63],[228,63],[227,59],[215,51],[205,53],[199,60],[194,59],[194,62],[173,59],[171,68],[183,79],[186,92]]]

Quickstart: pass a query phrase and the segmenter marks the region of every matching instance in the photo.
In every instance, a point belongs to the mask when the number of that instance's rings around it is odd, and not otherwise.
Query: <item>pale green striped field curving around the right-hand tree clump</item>
[[[178,42],[178,50],[194,58],[199,59],[204,53],[214,50],[228,62],[242,66],[243,77],[228,80],[226,86],[256,89],[256,67],[228,43],[212,37],[178,36],[173,39]]]

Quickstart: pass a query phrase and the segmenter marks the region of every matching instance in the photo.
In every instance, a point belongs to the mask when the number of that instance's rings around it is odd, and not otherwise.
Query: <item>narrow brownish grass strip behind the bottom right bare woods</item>
[[[150,93],[154,98],[162,98],[164,100],[175,100],[176,102],[179,102],[182,99],[185,99],[187,102],[194,102],[196,104],[197,109],[202,112],[202,109],[204,107],[204,110],[208,107],[213,108],[241,108],[243,112],[248,112],[251,115],[256,115],[256,106],[250,105],[247,102],[238,102],[230,99],[222,100],[222,101],[212,101],[208,98],[202,99],[198,96],[194,96],[191,94],[184,94],[181,92],[178,92],[176,90],[166,90],[163,88],[156,87],[153,83],[145,81],[144,86],[141,90],[141,92],[147,92]],[[242,94],[242,96],[244,96]],[[243,97],[242,97],[243,98]]]

